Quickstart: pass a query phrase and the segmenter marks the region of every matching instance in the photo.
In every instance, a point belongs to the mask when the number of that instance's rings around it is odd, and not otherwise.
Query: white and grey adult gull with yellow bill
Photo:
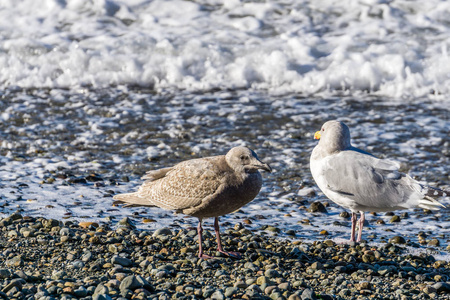
[[[310,168],[322,192],[336,204],[351,210],[355,241],[357,212],[361,214],[357,242],[361,241],[366,211],[394,211],[412,207],[438,210],[432,197],[446,196],[440,189],[422,185],[398,171],[399,164],[378,159],[350,144],[350,130],[339,121],[328,121],[314,135]]]

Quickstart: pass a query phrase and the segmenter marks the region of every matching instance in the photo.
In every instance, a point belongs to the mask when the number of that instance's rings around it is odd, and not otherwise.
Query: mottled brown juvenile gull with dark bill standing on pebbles
[[[202,219],[214,217],[218,251],[239,256],[223,250],[219,216],[241,208],[258,195],[262,186],[259,169],[272,171],[253,150],[234,147],[226,155],[191,159],[147,172],[137,192],[116,195],[114,199],[129,206],[158,206],[197,217],[200,258],[211,258],[203,254]]]

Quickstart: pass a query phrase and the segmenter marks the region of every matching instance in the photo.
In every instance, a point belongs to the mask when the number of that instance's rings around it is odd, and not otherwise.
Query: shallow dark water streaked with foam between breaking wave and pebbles
[[[159,208],[113,206],[112,195],[134,191],[147,170],[246,145],[274,172],[263,174],[263,189],[253,202],[221,218],[224,228],[246,220],[254,230],[276,227],[282,237],[348,239],[350,220],[339,216],[343,209],[323,196],[309,171],[313,134],[330,119],[347,123],[354,146],[401,162],[421,182],[449,188],[450,109],[442,102],[248,90],[34,89],[4,91],[0,111],[2,215],[20,210],[113,225],[130,216],[142,229],[195,226],[195,218]],[[315,201],[324,203],[327,213],[308,212]],[[450,205],[448,199],[443,203]],[[422,231],[445,249],[448,208],[407,212],[399,223],[390,223],[392,216],[384,213],[368,214],[364,237],[383,242],[402,235],[419,246]],[[386,224],[377,225],[379,219]],[[211,225],[205,221],[206,228]],[[320,235],[322,230],[328,235]]]

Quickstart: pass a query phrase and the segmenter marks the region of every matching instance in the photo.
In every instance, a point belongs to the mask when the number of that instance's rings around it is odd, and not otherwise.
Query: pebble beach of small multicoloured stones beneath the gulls
[[[137,230],[128,218],[95,222],[27,217],[0,220],[4,299],[450,299],[450,265],[401,244],[305,243],[245,224],[223,227],[216,253],[205,230]],[[431,250],[431,248],[430,248]]]

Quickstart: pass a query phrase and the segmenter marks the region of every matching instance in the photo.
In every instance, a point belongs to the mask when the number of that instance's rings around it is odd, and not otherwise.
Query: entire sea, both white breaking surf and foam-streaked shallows
[[[313,134],[342,120],[355,146],[449,189],[449,17],[446,1],[0,1],[0,214],[193,227],[112,195],[247,145],[274,172],[224,229],[348,239],[309,172]],[[422,231],[445,249],[447,208],[408,213],[369,214],[366,239]]]

